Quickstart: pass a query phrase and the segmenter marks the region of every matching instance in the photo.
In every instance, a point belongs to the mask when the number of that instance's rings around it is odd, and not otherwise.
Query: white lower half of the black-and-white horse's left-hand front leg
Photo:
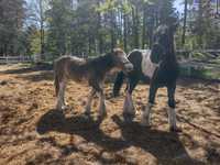
[[[142,118],[141,118],[141,125],[148,127],[151,125],[151,111],[152,111],[152,103],[147,103],[145,107],[145,110],[143,111]]]

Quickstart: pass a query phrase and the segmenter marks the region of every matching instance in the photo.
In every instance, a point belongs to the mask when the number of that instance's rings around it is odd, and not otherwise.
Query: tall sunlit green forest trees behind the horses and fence
[[[127,52],[150,48],[160,24],[178,21],[174,1],[35,0],[42,2],[42,13],[37,6],[30,16],[23,0],[2,0],[0,9],[7,14],[0,14],[0,54],[41,54],[42,44],[52,58],[98,55],[117,46]],[[180,22],[177,48],[219,48],[220,24],[210,15],[210,2],[201,0],[198,10],[193,10],[193,0],[188,3],[186,43],[182,44]]]

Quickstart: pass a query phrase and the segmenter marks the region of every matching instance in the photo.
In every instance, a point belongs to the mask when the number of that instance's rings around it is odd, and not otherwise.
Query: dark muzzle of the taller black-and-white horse
[[[158,64],[163,56],[164,50],[160,44],[154,44],[151,52],[152,63]]]

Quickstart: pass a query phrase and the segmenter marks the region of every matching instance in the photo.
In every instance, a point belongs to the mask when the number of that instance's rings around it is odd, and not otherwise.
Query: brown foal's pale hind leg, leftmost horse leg
[[[58,110],[64,110],[65,109],[65,88],[66,88],[66,81],[59,81],[58,84],[59,90],[58,90],[58,98],[57,98],[57,106],[56,108]]]

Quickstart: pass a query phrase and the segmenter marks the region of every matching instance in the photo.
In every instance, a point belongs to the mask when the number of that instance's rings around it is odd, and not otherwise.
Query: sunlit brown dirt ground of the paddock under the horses
[[[82,116],[89,88],[70,82],[69,108],[54,109],[53,74],[44,67],[0,66],[0,164],[220,164],[220,84],[178,81],[177,120],[180,133],[168,131],[166,89],[160,89],[152,128],[140,125],[148,86],[133,94],[136,118],[122,118],[123,91],[111,97],[108,117],[99,121],[98,100],[91,119]]]

